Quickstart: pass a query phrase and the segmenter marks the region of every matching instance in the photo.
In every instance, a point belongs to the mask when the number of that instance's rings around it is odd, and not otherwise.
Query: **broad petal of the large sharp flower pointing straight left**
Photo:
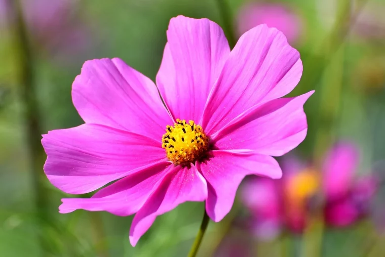
[[[43,135],[44,172],[70,194],[84,194],[165,159],[161,142],[98,124]]]

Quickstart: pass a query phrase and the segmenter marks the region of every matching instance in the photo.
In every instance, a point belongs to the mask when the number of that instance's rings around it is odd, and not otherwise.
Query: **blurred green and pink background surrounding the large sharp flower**
[[[70,195],[45,178],[40,143],[83,123],[70,92],[86,60],[120,57],[154,80],[179,14],[217,22],[230,44],[277,27],[303,61],[291,95],[316,90],[305,141],[278,158],[283,179],[246,178],[198,255],[385,256],[384,13],[382,0],[0,0],[0,256],[187,254],[203,203],[159,217],[133,248],[132,217],[59,214]]]

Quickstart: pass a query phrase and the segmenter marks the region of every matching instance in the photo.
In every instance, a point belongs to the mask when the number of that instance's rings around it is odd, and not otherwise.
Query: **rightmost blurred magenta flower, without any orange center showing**
[[[323,170],[325,221],[336,227],[348,226],[365,216],[374,195],[376,180],[371,175],[356,178],[359,152],[347,142],[329,152]]]

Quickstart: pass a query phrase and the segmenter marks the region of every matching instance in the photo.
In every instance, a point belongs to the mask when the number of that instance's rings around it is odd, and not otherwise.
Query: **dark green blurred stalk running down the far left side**
[[[15,33],[15,46],[17,49],[17,59],[20,82],[18,95],[22,102],[22,110],[25,122],[25,137],[29,163],[31,165],[31,176],[35,193],[36,218],[39,225],[43,225],[48,220],[47,213],[47,193],[42,182],[44,150],[41,144],[41,117],[39,115],[38,103],[36,100],[34,84],[34,60],[31,52],[29,38],[27,36],[25,22],[23,20],[21,4],[19,1],[8,0],[9,21]],[[41,232],[41,231],[40,231]],[[40,233],[38,240],[43,249],[49,246],[44,240],[43,233]],[[45,251],[43,252],[43,254]],[[44,255],[42,255],[44,256]]]

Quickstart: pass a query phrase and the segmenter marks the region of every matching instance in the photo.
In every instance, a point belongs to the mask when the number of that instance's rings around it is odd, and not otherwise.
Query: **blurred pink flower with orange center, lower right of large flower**
[[[307,201],[319,186],[314,170],[299,159],[290,156],[281,166],[285,172],[282,180],[253,178],[241,191],[241,200],[252,216],[251,232],[261,240],[276,238],[283,227],[302,232]]]

